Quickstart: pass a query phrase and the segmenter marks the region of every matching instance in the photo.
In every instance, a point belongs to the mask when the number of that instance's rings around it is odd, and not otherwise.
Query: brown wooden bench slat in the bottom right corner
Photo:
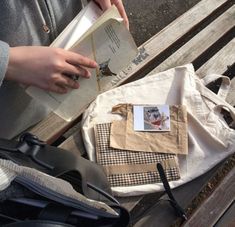
[[[235,168],[223,179],[214,193],[187,221],[188,226],[213,226],[235,198]]]

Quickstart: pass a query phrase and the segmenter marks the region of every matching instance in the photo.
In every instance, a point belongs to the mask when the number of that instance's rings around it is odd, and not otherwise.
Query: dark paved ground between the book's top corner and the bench
[[[123,0],[137,46],[200,0]]]

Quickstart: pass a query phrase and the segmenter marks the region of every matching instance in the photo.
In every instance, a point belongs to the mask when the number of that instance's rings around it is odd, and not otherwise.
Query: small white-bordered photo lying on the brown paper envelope
[[[170,131],[169,105],[134,105],[134,131]]]

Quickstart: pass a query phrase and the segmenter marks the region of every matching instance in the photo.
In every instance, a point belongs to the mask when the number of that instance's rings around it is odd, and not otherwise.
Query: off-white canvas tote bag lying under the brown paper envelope
[[[206,84],[222,77],[223,83],[216,95]],[[235,109],[225,98],[230,80],[220,75],[199,79],[192,64],[176,67],[145,77],[100,94],[83,115],[83,139],[90,160],[96,161],[94,125],[121,120],[111,114],[119,103],[185,105],[188,115],[189,154],[178,155],[180,176],[171,181],[172,188],[202,175],[221,160],[235,152],[235,130],[223,119],[221,109],[230,112],[235,121]],[[129,187],[113,187],[118,196],[134,196],[163,190],[161,183]]]

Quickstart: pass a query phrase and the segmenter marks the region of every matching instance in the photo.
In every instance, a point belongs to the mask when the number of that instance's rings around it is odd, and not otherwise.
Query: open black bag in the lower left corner
[[[16,178],[0,192],[1,226],[128,226],[129,212],[111,195],[106,175],[96,163],[47,145],[30,133],[22,135],[19,141],[0,139],[0,159],[61,178],[86,198],[102,201],[116,212],[111,215],[80,201],[71,206]]]

